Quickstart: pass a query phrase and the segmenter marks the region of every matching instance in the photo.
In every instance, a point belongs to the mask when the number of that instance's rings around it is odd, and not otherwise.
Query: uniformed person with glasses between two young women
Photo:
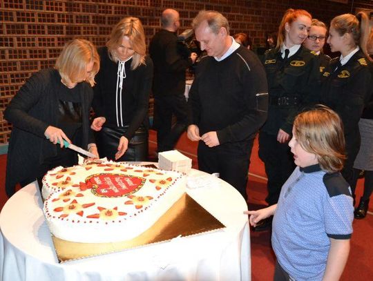
[[[327,26],[323,21],[312,19],[308,37],[303,42],[303,46],[308,50],[316,52],[320,59],[320,72],[323,73],[331,58],[323,53],[323,47],[327,39]]]

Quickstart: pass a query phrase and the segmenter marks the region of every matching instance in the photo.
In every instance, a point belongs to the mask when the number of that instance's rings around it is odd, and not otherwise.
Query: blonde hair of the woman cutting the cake
[[[95,75],[99,71],[99,55],[96,47],[86,39],[68,41],[57,58],[55,69],[59,71],[64,84],[79,82],[86,77],[86,66],[93,61],[93,69],[85,79],[90,86],[95,85]]]

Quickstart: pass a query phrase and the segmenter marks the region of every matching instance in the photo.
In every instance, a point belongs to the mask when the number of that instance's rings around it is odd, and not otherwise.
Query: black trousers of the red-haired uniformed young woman
[[[259,157],[265,164],[265,173],[268,177],[268,195],[265,201],[269,205],[274,205],[278,201],[283,184],[294,171],[294,157],[287,142],[280,144],[277,142],[276,135],[261,131],[259,133]]]

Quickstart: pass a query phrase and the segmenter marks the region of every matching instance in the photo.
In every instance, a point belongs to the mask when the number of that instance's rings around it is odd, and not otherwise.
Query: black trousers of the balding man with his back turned
[[[176,124],[172,126],[172,116]],[[155,97],[154,128],[157,152],[171,151],[187,126],[187,100],[184,94]]]

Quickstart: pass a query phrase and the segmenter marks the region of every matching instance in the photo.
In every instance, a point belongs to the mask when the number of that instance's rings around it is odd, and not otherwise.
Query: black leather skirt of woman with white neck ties
[[[107,157],[113,161],[147,161],[148,160],[148,130],[140,127],[136,130],[128,144],[126,153],[115,160],[115,153],[119,139],[126,133],[128,126],[118,128],[102,127],[102,130],[95,133],[99,157]]]

